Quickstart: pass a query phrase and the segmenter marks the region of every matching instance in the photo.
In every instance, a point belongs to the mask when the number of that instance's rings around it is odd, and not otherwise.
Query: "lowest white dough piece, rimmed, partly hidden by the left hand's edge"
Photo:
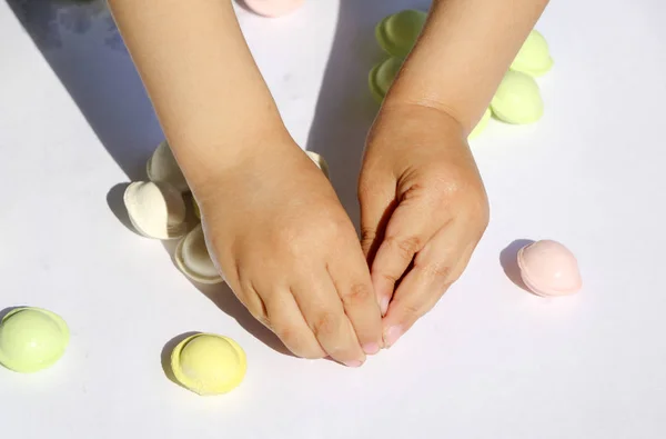
[[[222,277],[205,245],[201,225],[181,239],[175,248],[174,259],[178,268],[195,282],[209,285],[222,282]]]

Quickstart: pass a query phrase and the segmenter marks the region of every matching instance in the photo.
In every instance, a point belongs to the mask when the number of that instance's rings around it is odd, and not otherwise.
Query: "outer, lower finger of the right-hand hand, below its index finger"
[[[393,346],[421,317],[434,308],[467,266],[475,242],[463,238],[463,228],[442,229],[414,260],[384,318],[384,343]]]

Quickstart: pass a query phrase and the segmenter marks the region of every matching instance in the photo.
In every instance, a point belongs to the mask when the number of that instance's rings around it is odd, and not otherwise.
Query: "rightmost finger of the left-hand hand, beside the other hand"
[[[329,263],[329,273],[363,351],[374,355],[383,346],[382,315],[363,253],[355,245],[345,249],[346,258],[341,256]]]

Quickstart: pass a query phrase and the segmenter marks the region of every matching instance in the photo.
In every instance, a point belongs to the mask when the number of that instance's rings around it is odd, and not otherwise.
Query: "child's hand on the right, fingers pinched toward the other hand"
[[[359,199],[391,346],[457,280],[487,226],[486,193],[460,123],[422,106],[383,108]]]

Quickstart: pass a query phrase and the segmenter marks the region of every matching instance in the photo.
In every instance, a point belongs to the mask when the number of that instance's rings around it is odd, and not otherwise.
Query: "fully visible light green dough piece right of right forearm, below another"
[[[534,78],[509,70],[491,101],[491,109],[504,122],[527,124],[544,114],[544,101]]]

